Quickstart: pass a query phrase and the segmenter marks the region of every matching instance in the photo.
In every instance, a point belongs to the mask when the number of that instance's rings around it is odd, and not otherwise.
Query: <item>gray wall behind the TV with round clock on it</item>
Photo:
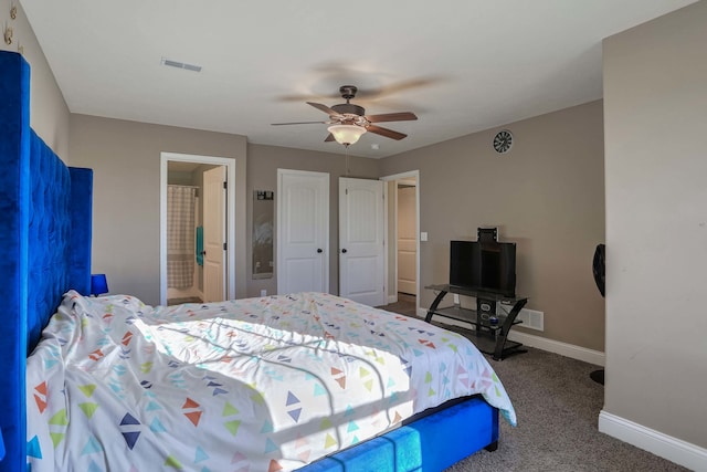
[[[593,102],[383,159],[381,176],[420,170],[420,286],[446,283],[449,244],[499,228],[517,243],[517,293],[545,312],[528,333],[603,352],[604,301],[594,284],[594,248],[604,241],[602,103]],[[421,290],[421,306],[434,296]],[[463,301],[464,303],[464,301]]]

